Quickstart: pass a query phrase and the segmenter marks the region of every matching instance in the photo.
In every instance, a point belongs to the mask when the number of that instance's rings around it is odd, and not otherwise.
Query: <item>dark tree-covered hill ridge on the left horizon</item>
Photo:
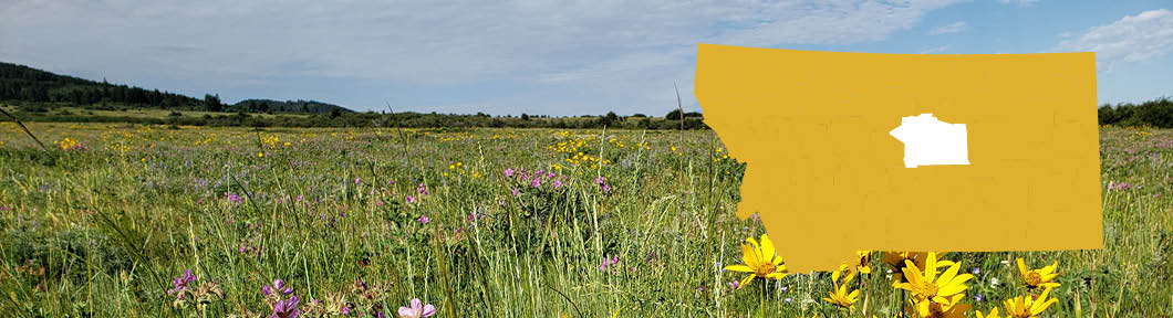
[[[189,111],[301,112],[331,113],[351,110],[313,101],[246,99],[224,105],[216,95],[203,99],[179,94],[148,90],[57,75],[26,65],[0,62],[0,102],[38,105],[74,105],[91,109],[163,109]]]

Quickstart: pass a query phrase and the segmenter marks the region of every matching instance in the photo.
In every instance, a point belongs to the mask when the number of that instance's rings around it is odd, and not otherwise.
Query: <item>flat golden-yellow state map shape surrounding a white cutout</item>
[[[833,270],[855,250],[1103,247],[1093,53],[700,44],[696,95],[746,163],[738,216],[761,216],[792,271]],[[950,138],[968,158],[906,167],[889,132],[923,113],[964,124]]]

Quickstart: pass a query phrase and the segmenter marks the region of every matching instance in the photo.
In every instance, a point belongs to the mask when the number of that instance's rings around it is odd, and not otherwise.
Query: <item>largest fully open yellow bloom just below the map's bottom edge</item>
[[[913,261],[904,261],[903,272],[908,283],[899,283],[896,288],[908,290],[913,293],[913,302],[917,305],[917,312],[929,311],[931,303],[951,306],[952,302],[956,300],[952,299],[955,296],[965,295],[963,292],[969,289],[965,282],[974,278],[974,275],[957,275],[961,263],[950,262],[950,264],[949,269],[941,274],[941,276],[937,276],[936,253],[929,253],[925,257],[923,275],[920,267],[913,263]]]

